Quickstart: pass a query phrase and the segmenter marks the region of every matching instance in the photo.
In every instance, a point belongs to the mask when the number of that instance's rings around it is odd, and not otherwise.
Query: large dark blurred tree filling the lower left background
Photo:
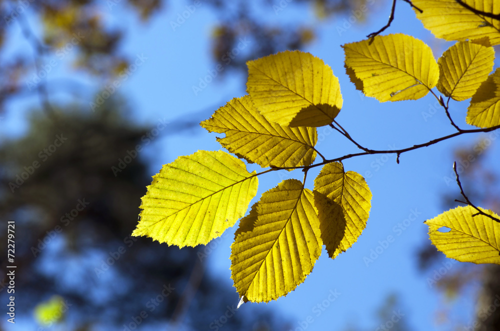
[[[134,329],[142,319],[141,328],[169,321],[193,329],[282,329],[286,323],[255,307],[235,311],[237,294],[203,275],[196,248],[130,237],[150,181],[140,150],[164,125],[136,127],[126,113],[118,101],[95,115],[77,105],[56,110],[57,124],[34,112],[28,135],[1,144],[0,212],[16,220],[18,313],[31,315],[57,294],[68,305],[67,330]],[[123,169],[119,159],[127,162]],[[14,180],[18,174],[25,179]]]

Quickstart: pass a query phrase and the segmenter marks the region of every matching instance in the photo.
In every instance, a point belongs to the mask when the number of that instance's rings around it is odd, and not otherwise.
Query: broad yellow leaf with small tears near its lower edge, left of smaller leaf
[[[380,102],[416,100],[437,83],[439,67],[432,50],[410,35],[377,35],[342,47],[351,81]]]

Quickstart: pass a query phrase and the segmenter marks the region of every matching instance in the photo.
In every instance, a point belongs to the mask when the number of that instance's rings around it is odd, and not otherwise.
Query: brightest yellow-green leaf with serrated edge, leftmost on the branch
[[[244,215],[257,185],[255,172],[226,152],[180,156],[153,176],[132,235],[179,247],[206,244]]]

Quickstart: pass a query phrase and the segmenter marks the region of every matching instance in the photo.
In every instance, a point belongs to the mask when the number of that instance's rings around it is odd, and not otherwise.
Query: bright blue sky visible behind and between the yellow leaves
[[[124,51],[130,57],[136,54],[147,57],[119,88],[120,93],[131,99],[132,117],[140,123],[153,124],[163,118],[173,121],[179,117],[190,118],[205,113],[205,117],[199,118],[201,121],[226,101],[245,93],[244,75],[224,68],[227,72],[222,79],[215,79],[197,95],[194,94],[192,86],[197,85],[200,77],[207,75],[207,71],[213,70],[216,65],[209,50],[210,32],[216,18],[201,1],[201,5],[174,31],[170,21],[185,10],[186,3],[181,0],[168,2],[168,7],[145,24],[120,8],[119,3],[112,9],[105,5],[102,7],[103,14],[109,15],[113,24],[124,24],[126,20],[122,17],[133,21],[128,24]],[[279,1],[272,2],[277,4]],[[344,19],[348,17],[339,15],[317,23],[310,9],[296,10],[290,6],[278,15],[274,13],[272,4],[260,9],[263,19],[293,19],[320,26],[316,40],[306,50],[322,58],[339,78],[344,103],[336,120],[359,143],[373,149],[411,146],[454,130],[442,109],[428,118],[422,115],[435,106],[436,100],[432,95],[428,94],[416,101],[379,103],[373,98],[362,96],[345,74],[340,45],[364,39],[366,34],[384,25],[389,13],[387,2],[375,0],[368,3],[367,21],[353,22],[341,33],[338,28],[347,26],[344,26]],[[436,59],[452,44],[435,39],[403,1],[398,1],[396,17],[384,33],[398,32],[424,40],[431,46]],[[67,71],[61,66],[53,74],[63,76],[67,75]],[[89,92],[82,96],[88,102],[92,99],[92,92],[99,86],[92,85],[87,77],[81,77],[81,81],[89,86]],[[25,127],[23,113],[17,113],[14,108],[22,108],[21,105],[30,102],[34,104],[36,99],[16,101],[10,105],[5,119],[6,130],[2,134],[22,133]],[[461,127],[468,127],[464,120],[467,105],[468,101],[451,103],[452,116]],[[327,158],[357,150],[347,139],[329,128],[318,128],[318,133],[324,134],[324,139],[317,148]],[[160,134],[142,155],[150,161],[150,173],[153,175],[162,164],[173,161],[179,155],[189,155],[198,149],[220,149],[216,136],[201,127],[178,135]],[[436,311],[443,304],[442,296],[435,287],[428,285],[427,277],[432,277],[432,271],[421,273],[417,270],[416,253],[422,242],[430,244],[423,221],[443,211],[442,193],[457,190],[453,183],[447,185],[443,179],[450,175],[453,148],[473,144],[479,137],[464,135],[404,153],[399,158],[399,164],[395,161],[395,155],[368,155],[345,160],[346,170],[357,171],[362,175],[371,172],[371,176],[366,178],[373,194],[366,229],[358,241],[335,260],[329,259],[323,251],[305,282],[286,297],[268,303],[266,308],[287,316],[294,330],[304,325],[303,321],[307,321],[308,316],[309,321],[312,318],[312,323],[308,322],[308,330],[339,329],[348,324],[375,329],[378,326],[376,309],[388,294],[396,293],[401,298],[399,309],[404,314],[402,318],[413,329],[444,330],[444,324],[436,324]],[[497,143],[493,143],[495,146],[489,152],[489,160],[498,162]],[[258,169],[258,166],[248,165],[248,169]],[[312,188],[312,180],[318,171],[319,168],[309,172],[309,188]],[[271,172],[260,177],[257,198],[281,179],[302,178],[300,171],[284,174],[281,177]],[[398,223],[406,225],[398,229]],[[229,255],[235,228],[229,229],[227,234],[216,240],[216,247],[208,257],[210,272],[228,286],[232,285]],[[392,236],[393,240],[386,245],[383,241],[388,236]],[[378,248],[381,253],[366,265],[365,257],[370,257],[371,250],[377,250],[377,246],[382,244],[386,247]],[[455,263],[451,265],[453,267]],[[340,294],[333,302],[324,301],[328,299],[330,290]],[[455,302],[455,307],[459,309],[454,311],[461,313],[452,316],[467,323],[473,316],[475,297],[473,292],[465,294]],[[318,314],[314,307],[323,302],[327,302],[328,306]],[[240,309],[250,304],[245,303]]]

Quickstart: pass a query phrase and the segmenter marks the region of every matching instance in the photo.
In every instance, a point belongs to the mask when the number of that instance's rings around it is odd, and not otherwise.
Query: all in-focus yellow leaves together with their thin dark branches
[[[483,2],[478,9],[500,11],[500,2]],[[258,175],[301,168],[302,181],[283,180],[251,206],[231,246],[232,279],[240,297],[267,302],[304,281],[322,244],[335,258],[365,228],[371,192],[360,174],[344,169],[342,160],[373,153],[399,156],[460,134],[500,128],[500,69],[489,74],[491,45],[500,43],[500,21],[454,0],[413,3],[421,10],[415,10],[417,17],[434,34],[458,41],[437,61],[429,46],[405,34],[347,43],[342,46],[346,73],[357,89],[380,102],[414,100],[431,92],[455,133],[399,150],[366,148],[335,120],[342,107],[340,86],[321,59],[284,51],[248,61],[248,95],[232,99],[200,123],[210,132],[225,133],[217,140],[237,158],[220,150],[198,150],[163,165],[142,197],[143,210],[132,234],[179,247],[206,244],[245,214],[256,194]],[[446,14],[435,23],[429,17],[436,19],[439,10]],[[467,98],[471,100],[466,122],[478,129],[461,129],[449,113],[450,99]],[[315,148],[316,127],[323,125],[362,151],[326,159]],[[314,162],[317,155],[320,162]],[[269,169],[250,173],[238,158]],[[305,178],[316,166],[322,169],[310,190]],[[458,175],[457,183],[461,189]],[[426,221],[432,243],[459,261],[500,264],[498,215],[474,206],[463,190],[462,194],[466,206]],[[450,230],[441,232],[442,227]]]

